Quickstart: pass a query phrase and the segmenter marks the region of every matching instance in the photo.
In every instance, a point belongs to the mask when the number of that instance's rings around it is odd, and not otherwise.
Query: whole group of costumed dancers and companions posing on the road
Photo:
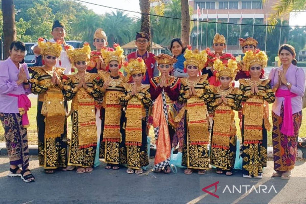
[[[268,58],[256,49],[258,42],[253,38],[239,39],[245,55],[237,62],[223,52],[226,40],[218,33],[213,50],[185,48],[175,38],[170,44],[173,56],[155,56],[146,50],[149,35],[137,32],[138,49],[127,57],[118,44],[107,47],[101,28],[94,34],[94,51],[88,43],[78,49],[66,45],[65,26],[58,21],[52,35],[51,41],[38,39],[34,51],[42,65],[30,68],[31,77],[21,63],[25,45],[20,41],[11,44],[10,57],[0,64],[0,120],[9,176],[35,181],[28,169],[27,140],[31,102],[26,95],[33,93],[38,95],[39,165],[47,174],[75,168],[77,173],[91,172],[99,158],[106,169],[125,165],[127,173],[141,174],[149,164],[147,137],[153,126],[154,172],[171,172],[170,154],[175,148],[182,152],[185,174],[195,170],[205,174],[214,165],[217,174],[230,176],[240,148],[234,121],[234,111],[239,111],[243,177],[262,178],[271,128],[267,103],[273,103],[273,176],[290,178],[305,90],[305,73],[296,66],[292,46],[279,48],[282,66],[272,69],[266,79]],[[77,72],[71,74],[71,69]],[[239,88],[234,80],[239,80]],[[71,138],[67,137],[69,116]]]

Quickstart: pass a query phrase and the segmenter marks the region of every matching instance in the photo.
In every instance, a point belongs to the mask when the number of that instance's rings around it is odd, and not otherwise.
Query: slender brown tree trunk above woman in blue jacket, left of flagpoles
[[[182,10],[182,43],[184,46],[189,45],[189,34],[190,34],[190,15],[189,15],[189,1],[181,0]]]

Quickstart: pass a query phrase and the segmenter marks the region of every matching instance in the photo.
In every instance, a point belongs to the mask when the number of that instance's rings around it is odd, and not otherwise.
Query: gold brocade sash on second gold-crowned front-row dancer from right
[[[229,149],[232,123],[230,106],[218,106],[215,110],[212,147]]]

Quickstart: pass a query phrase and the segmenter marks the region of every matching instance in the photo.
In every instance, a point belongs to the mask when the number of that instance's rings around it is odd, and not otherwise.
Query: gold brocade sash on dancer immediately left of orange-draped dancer
[[[141,145],[142,141],[141,111],[142,111],[141,102],[138,99],[129,100],[126,109],[126,128],[125,128],[125,141],[127,145]]]

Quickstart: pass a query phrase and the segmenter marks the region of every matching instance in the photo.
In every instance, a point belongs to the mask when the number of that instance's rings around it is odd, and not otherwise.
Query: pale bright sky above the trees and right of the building
[[[83,0],[84,2],[95,3],[104,6],[110,6],[118,9],[126,9],[131,11],[140,12],[139,0]],[[104,14],[110,13],[111,11],[116,12],[116,9],[109,9],[102,6],[91,5],[87,3],[82,3],[86,5],[89,9],[92,9],[95,13]],[[140,17],[139,13],[126,12],[130,17],[137,16]],[[289,25],[306,25],[306,12],[290,13]]]

